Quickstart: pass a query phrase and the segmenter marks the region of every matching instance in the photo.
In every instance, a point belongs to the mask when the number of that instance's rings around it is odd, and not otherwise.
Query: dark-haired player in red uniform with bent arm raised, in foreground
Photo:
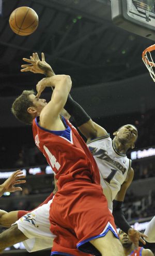
[[[38,98],[47,86],[55,87],[48,104]],[[59,115],[70,88],[69,76],[44,78],[37,84],[37,97],[24,91],[12,106],[19,119],[33,123],[36,145],[58,179],[59,191],[50,210],[51,231],[57,235],[52,254],[79,255],[77,246],[91,254],[119,256],[123,251],[102,193],[98,167],[75,128]],[[10,240],[11,232],[19,234],[17,225],[5,237],[1,235]]]

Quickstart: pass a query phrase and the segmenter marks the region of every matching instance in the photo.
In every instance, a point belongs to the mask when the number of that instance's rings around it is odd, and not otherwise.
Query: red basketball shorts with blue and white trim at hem
[[[100,255],[90,240],[111,230],[118,238],[114,218],[102,187],[85,181],[70,182],[57,192],[50,208],[54,239],[51,255]],[[77,249],[79,250],[77,250]]]

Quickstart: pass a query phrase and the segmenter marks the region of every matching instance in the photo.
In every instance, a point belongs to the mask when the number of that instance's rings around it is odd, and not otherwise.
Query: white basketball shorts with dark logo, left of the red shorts
[[[23,215],[22,218],[14,223],[29,238],[23,241],[28,252],[52,248],[53,246],[53,239],[56,236],[50,231],[49,221],[49,210],[52,200],[48,204],[42,205],[34,211]]]

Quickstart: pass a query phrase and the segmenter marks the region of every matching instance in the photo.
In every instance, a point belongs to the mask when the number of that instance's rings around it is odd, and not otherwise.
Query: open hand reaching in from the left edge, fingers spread
[[[21,191],[21,187],[15,187],[14,185],[26,182],[26,180],[21,180],[25,178],[25,175],[22,174],[23,172],[21,170],[13,172],[12,175],[2,185],[0,185],[0,196],[5,192]]]

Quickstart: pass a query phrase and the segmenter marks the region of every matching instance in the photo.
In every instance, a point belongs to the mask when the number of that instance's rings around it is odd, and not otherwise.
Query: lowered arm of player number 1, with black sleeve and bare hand
[[[146,242],[142,237],[146,237],[143,233],[140,233],[134,228],[132,228],[129,223],[127,222],[125,215],[123,214],[123,211],[121,209],[123,200],[125,199],[125,195],[127,192],[128,187],[130,186],[134,176],[134,171],[131,168],[129,170],[127,179],[123,184],[121,185],[120,191],[115,197],[115,200],[113,200],[113,216],[115,220],[115,224],[126,234],[128,234],[130,240],[134,243],[136,248],[139,245],[139,241],[141,241],[144,245]]]

